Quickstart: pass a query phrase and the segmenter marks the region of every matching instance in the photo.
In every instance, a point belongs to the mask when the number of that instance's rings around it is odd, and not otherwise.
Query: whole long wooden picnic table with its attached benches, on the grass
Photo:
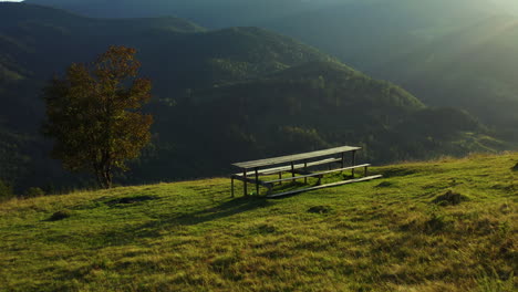
[[[272,157],[267,159],[260,160],[251,160],[251,161],[244,161],[244,163],[235,163],[232,166],[238,167],[241,169],[240,173],[234,174],[230,176],[231,179],[231,194],[234,197],[234,180],[241,180],[244,182],[244,195],[248,196],[248,184],[256,185],[256,194],[259,194],[259,187],[268,188],[268,198],[293,195],[302,191],[340,186],[345,184],[359,182],[371,180],[375,178],[380,178],[381,175],[369,176],[367,168],[371,166],[370,164],[361,164],[356,165],[356,152],[360,150],[361,147],[354,146],[342,146],[335,147],[330,149],[323,149],[318,152],[310,152],[310,153],[301,153],[294,155],[286,155],[279,157]],[[346,159],[345,154],[351,153],[351,161],[349,166],[345,166]],[[339,157],[335,157],[340,155]],[[331,156],[331,157],[330,157]],[[310,167],[328,165],[328,170],[318,170],[318,171],[310,171]],[[339,165],[338,167],[332,167],[332,165]],[[276,167],[272,167],[276,166]],[[265,168],[269,167],[269,168]],[[364,168],[363,177],[354,178],[354,170],[358,168]],[[321,179],[324,175],[351,170],[352,178],[348,180],[342,180],[333,184],[321,185]],[[282,177],[282,173],[291,173],[291,177]],[[270,180],[260,180],[260,176],[271,176],[278,174],[278,179],[270,179]],[[294,181],[297,179],[304,179],[304,184],[308,182],[308,178],[315,177],[318,178],[315,186],[310,186],[302,189],[296,189],[290,191],[284,191],[280,194],[271,194],[273,186],[276,184],[282,184],[284,181]]]

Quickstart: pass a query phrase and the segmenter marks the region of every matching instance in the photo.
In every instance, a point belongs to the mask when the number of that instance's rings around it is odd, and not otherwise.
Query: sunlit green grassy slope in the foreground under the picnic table
[[[511,291],[517,163],[393,165],[276,200],[231,199],[227,178],[11,200],[0,291]]]

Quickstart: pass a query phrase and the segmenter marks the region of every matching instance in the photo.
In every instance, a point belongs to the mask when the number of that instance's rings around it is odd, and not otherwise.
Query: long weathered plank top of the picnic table
[[[292,163],[292,161],[298,161],[298,160],[303,160],[303,159],[315,158],[320,156],[333,155],[338,153],[354,152],[361,148],[362,147],[341,146],[341,147],[329,148],[329,149],[323,149],[323,150],[318,150],[318,152],[309,152],[309,153],[286,155],[286,156],[279,156],[279,157],[272,157],[272,158],[266,158],[266,159],[259,159],[259,160],[235,163],[232,165],[239,168],[249,169],[249,168],[263,167],[263,166],[270,166],[270,165],[277,165],[277,164],[283,164],[283,163]]]

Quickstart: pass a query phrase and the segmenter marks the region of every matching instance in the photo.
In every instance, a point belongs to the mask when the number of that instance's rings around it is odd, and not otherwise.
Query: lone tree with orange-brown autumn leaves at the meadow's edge
[[[153,118],[139,112],[151,98],[151,81],[136,77],[135,53],[111,46],[93,63],[73,63],[43,90],[43,134],[55,139],[52,157],[65,169],[93,173],[104,188],[151,138]]]

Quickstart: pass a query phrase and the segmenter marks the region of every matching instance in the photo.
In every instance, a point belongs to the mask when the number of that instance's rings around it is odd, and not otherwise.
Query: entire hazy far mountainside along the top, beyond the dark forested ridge
[[[426,103],[462,107],[505,139],[518,137],[518,91],[509,81],[518,50],[512,0],[30,2],[97,17],[169,13],[209,27],[267,28],[401,84]]]

